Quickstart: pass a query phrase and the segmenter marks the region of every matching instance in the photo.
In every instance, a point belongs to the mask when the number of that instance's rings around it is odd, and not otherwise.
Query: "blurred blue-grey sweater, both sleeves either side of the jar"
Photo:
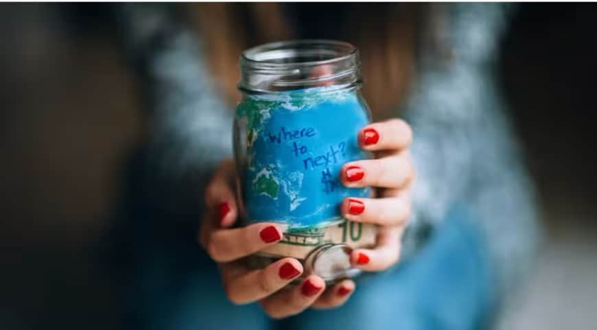
[[[416,258],[449,209],[466,204],[488,242],[496,289],[505,298],[528,269],[539,237],[532,187],[493,72],[510,10],[472,3],[447,10],[447,25],[435,31],[445,47],[421,49],[417,83],[400,111],[414,131],[418,174],[403,253]],[[126,54],[152,109],[147,175],[173,182],[162,184],[174,193],[156,199],[156,208],[171,219],[190,219],[202,198],[181,205],[174,196],[199,193],[215,165],[231,156],[232,111],[213,88],[198,36],[170,10],[125,5],[119,17]],[[437,29],[433,18],[428,28]],[[196,189],[177,189],[188,182]],[[180,223],[192,237],[196,222]]]

